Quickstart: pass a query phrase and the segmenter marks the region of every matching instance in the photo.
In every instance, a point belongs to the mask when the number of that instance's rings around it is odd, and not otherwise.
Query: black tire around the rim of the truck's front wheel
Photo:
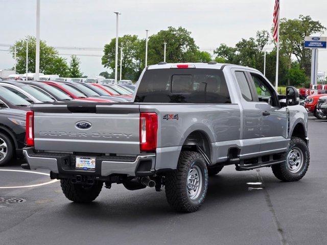
[[[302,167],[296,173],[292,173],[287,167],[288,153],[294,147],[296,147],[302,151],[303,159],[304,159]],[[292,137],[292,139],[290,141],[289,149],[284,154],[283,157],[285,158],[284,163],[271,166],[272,173],[275,175],[275,177],[277,179],[282,180],[282,181],[292,182],[292,181],[298,181],[306,175],[308,168],[309,168],[309,163],[310,163],[310,152],[309,152],[308,145],[306,144],[306,142],[303,139],[298,138],[298,137]]]

